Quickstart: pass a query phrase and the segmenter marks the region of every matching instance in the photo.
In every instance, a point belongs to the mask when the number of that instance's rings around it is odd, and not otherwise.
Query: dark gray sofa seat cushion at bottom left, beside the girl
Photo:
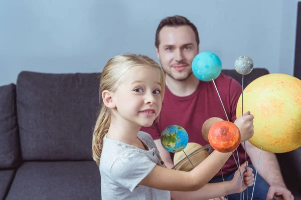
[[[101,199],[99,168],[94,161],[25,162],[6,199]]]

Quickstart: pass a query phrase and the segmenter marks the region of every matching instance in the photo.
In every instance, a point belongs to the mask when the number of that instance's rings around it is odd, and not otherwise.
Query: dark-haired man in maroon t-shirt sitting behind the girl
[[[165,150],[160,140],[160,133],[165,127],[171,124],[181,125],[187,130],[190,142],[206,145],[207,142],[201,134],[204,121],[213,116],[224,120],[227,120],[227,117],[213,82],[200,81],[192,73],[192,60],[199,53],[199,35],[193,23],[179,15],[164,18],[156,32],[156,51],[166,73],[165,99],[158,122],[151,127],[143,127],[141,130],[153,136],[163,161],[167,167],[172,168],[174,166],[173,153]],[[223,73],[215,79],[215,83],[229,120],[234,122],[241,85]],[[245,161],[243,145],[239,145],[238,152],[239,161],[243,163]],[[259,149],[246,142],[246,152],[249,166],[256,166]],[[293,199],[283,182],[275,155],[262,151],[260,166],[253,198],[272,199],[274,195],[280,195],[284,199]],[[231,180],[236,169],[234,158],[231,157],[222,168],[225,180]],[[255,169],[253,172],[255,173]],[[221,172],[211,180],[211,182],[220,181],[222,181]],[[252,189],[253,186],[248,188],[249,197],[251,197]],[[246,198],[246,190],[244,193]],[[173,199],[179,199],[181,195],[183,199],[197,199],[198,191],[177,192],[176,195],[172,192]],[[228,198],[240,199],[240,194],[231,194]]]

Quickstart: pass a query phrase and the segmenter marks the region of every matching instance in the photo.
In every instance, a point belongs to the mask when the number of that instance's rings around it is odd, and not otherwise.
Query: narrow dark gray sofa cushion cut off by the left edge
[[[15,167],[20,160],[16,111],[16,85],[0,87],[0,168]]]

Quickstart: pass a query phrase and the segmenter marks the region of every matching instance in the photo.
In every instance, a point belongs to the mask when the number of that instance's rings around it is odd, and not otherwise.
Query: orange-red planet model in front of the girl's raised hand
[[[209,129],[210,145],[219,152],[231,152],[240,144],[240,131],[230,121],[218,121]]]

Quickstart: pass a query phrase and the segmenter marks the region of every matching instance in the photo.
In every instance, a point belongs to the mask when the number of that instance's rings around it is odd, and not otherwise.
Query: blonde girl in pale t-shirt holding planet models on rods
[[[213,151],[190,172],[165,167],[152,136],[139,131],[159,116],[164,90],[164,72],[147,56],[117,55],[103,68],[102,107],[92,141],[93,159],[101,175],[102,199],[171,199],[170,190],[202,190],[198,199],[241,192],[238,170],[231,181],[206,184],[231,152]],[[237,119],[237,126],[242,141],[252,136],[251,115]],[[244,169],[245,164],[241,165],[242,172]],[[254,175],[251,168],[242,175],[245,189],[253,184]]]

